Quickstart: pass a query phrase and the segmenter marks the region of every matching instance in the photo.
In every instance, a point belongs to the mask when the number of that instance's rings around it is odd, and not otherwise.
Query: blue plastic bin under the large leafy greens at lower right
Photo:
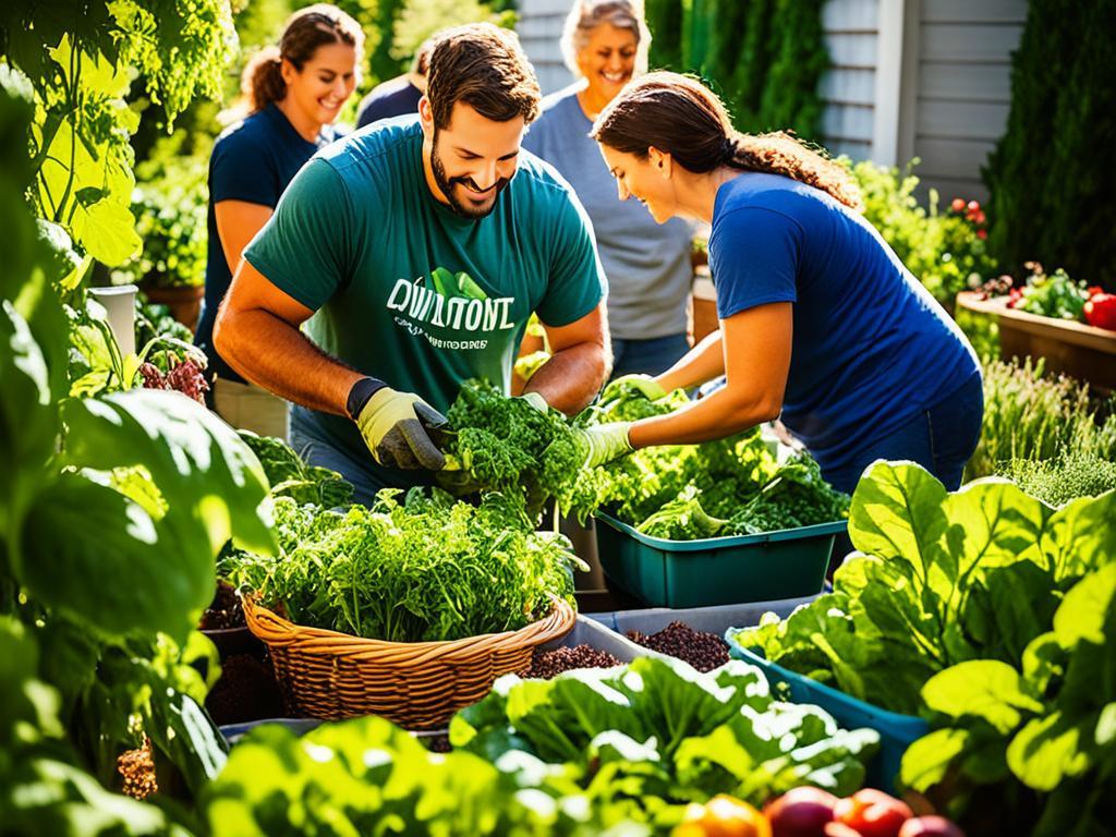
[[[868,727],[879,733],[879,751],[868,762],[866,783],[891,793],[897,791],[895,780],[899,775],[903,753],[920,738],[930,732],[930,724],[915,715],[888,712],[870,703],[859,701],[833,686],[818,683],[781,665],[769,663],[759,654],[742,648],[733,638],[738,628],[729,628],[724,641],[729,643],[729,654],[737,660],[758,665],[771,683],[786,683],[795,703],[814,703],[831,714],[837,722],[849,730]]]

